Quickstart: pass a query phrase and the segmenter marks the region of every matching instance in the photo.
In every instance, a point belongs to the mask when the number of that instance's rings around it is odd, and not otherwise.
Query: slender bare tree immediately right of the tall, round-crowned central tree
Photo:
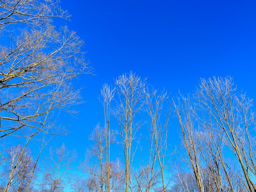
[[[171,106],[170,103],[166,103],[166,110],[165,114],[163,115],[164,109],[164,102],[168,99],[168,95],[166,91],[162,91],[160,94],[157,93],[157,90],[152,88],[152,90],[146,89],[146,97],[145,97],[145,104],[146,104],[146,111],[149,115],[149,124],[150,124],[150,140],[151,140],[151,151],[154,154],[153,157],[153,166],[154,158],[157,157],[158,163],[160,166],[160,173],[162,176],[162,186],[163,191],[166,191],[166,187],[168,186],[165,183],[166,177],[164,176],[164,169],[170,167],[170,160],[174,154],[174,152],[168,151],[168,129],[169,122],[171,120]],[[174,150],[175,151],[175,150]],[[151,168],[151,170],[153,167]],[[151,173],[152,175],[152,173]],[[152,180],[152,178],[150,179]],[[151,188],[151,187],[150,187]],[[150,191],[149,188],[149,191]]]

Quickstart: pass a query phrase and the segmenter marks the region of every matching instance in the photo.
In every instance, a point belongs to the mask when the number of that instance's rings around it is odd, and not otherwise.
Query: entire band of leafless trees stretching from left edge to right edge
[[[92,71],[83,41],[53,25],[70,17],[59,1],[4,0],[0,10],[1,191],[256,191],[253,103],[231,77],[201,79],[192,94],[170,98],[122,74],[101,89],[104,125],[92,130],[82,165],[64,144],[43,157],[67,131],[59,116],[81,102],[74,79]],[[173,117],[177,150],[168,140]],[[112,155],[116,145],[122,158]]]

